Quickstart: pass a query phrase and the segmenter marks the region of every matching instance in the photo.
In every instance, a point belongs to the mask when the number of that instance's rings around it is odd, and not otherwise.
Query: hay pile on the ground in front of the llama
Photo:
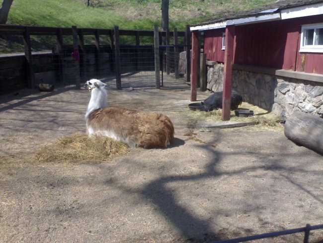
[[[58,138],[37,151],[39,162],[108,161],[114,156],[128,153],[128,145],[106,136],[76,133]]]

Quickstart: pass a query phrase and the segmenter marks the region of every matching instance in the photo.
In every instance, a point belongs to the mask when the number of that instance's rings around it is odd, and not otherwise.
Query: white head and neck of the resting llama
[[[87,117],[93,110],[107,107],[108,94],[104,83],[97,79],[91,79],[86,81],[84,88],[91,92],[91,99],[88,104],[85,117]]]

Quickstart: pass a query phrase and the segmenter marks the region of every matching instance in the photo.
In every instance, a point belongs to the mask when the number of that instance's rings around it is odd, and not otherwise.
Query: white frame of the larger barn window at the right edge
[[[317,29],[319,29],[319,28],[323,28],[323,23],[302,25],[300,52],[320,52],[320,53],[323,53],[323,45],[316,44],[316,33],[317,33]],[[305,45],[305,43],[306,43],[305,33],[306,33],[306,30],[308,30],[308,29],[314,29],[313,45]]]

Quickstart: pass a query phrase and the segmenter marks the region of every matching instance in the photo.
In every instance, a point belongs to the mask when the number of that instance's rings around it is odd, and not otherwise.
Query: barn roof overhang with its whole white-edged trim
[[[203,31],[225,28],[228,25],[243,25],[318,14],[323,14],[323,0],[280,0],[261,8],[233,13],[200,24],[192,24],[190,30]]]

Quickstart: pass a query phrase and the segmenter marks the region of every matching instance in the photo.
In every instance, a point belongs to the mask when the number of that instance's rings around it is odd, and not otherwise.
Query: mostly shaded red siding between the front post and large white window
[[[298,34],[287,34],[293,32],[281,21],[237,26],[235,63],[294,70]]]

